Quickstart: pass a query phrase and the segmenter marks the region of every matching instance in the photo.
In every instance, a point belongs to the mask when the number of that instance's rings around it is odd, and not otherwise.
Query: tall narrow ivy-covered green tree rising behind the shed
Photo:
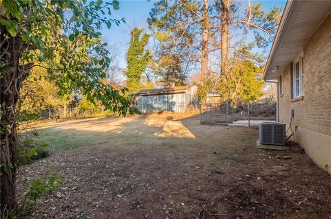
[[[128,69],[123,72],[128,77],[126,87],[130,91],[137,91],[140,89],[140,80],[148,62],[150,61],[150,51],[146,49],[148,44],[149,34],[143,34],[143,30],[134,27],[131,31],[130,47],[126,53],[126,61],[128,62]]]

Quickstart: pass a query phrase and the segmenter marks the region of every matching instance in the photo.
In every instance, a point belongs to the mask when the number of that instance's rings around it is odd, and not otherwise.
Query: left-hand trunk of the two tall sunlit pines
[[[201,82],[208,79],[208,43],[209,43],[209,15],[208,0],[203,0],[202,42],[201,42]]]

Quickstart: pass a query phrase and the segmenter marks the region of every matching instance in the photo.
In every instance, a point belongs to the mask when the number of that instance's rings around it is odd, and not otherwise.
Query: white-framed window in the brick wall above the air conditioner
[[[293,98],[303,95],[303,59],[302,53],[293,62]]]

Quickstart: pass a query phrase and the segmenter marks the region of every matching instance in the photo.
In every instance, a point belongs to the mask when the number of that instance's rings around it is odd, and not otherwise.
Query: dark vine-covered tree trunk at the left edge
[[[5,62],[5,65],[0,68],[0,218],[7,218],[16,204],[17,160],[15,154],[18,149],[16,111],[19,89],[22,81],[28,76],[28,73],[24,73],[26,72],[24,69],[29,69],[32,65],[20,65],[22,51],[26,48],[21,36],[11,37],[3,25],[0,31],[2,44],[0,54],[3,55],[1,60]]]

